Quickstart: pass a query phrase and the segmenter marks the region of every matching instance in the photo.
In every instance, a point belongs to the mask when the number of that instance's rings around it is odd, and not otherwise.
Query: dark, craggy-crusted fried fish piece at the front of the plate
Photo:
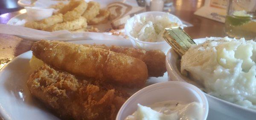
[[[75,120],[114,120],[128,97],[48,65],[32,73],[27,86],[32,95],[61,117]]]

